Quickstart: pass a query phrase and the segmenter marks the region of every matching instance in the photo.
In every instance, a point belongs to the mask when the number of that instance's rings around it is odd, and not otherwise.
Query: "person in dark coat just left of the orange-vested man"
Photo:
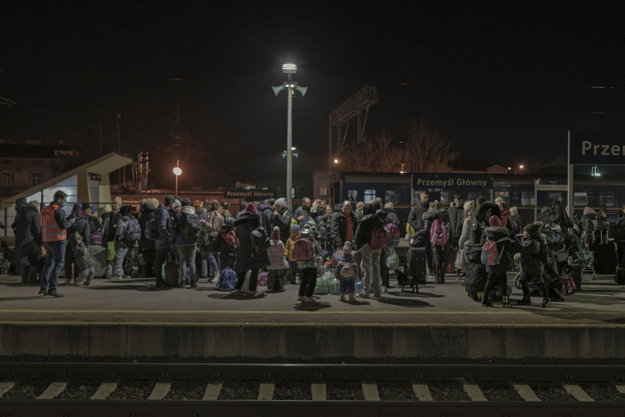
[[[22,206],[16,227],[15,259],[22,275],[22,284],[34,284],[43,248],[39,210],[30,203]]]

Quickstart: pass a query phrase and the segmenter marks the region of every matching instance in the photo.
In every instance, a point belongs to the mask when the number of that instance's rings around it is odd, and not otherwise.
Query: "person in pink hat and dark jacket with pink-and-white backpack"
[[[487,242],[496,242],[499,263],[494,265],[486,264],[486,286],[484,286],[484,295],[482,295],[482,307],[492,307],[489,301],[490,290],[493,286],[499,285],[501,291],[501,306],[511,307],[507,298],[507,277],[506,272],[510,266],[510,254],[512,251],[512,242],[508,235],[510,231],[501,226],[501,219],[497,216],[491,216],[488,219],[489,227],[484,229]]]

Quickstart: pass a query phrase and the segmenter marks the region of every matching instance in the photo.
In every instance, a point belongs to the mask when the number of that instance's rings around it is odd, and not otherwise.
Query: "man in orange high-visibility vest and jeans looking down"
[[[52,203],[39,213],[41,239],[46,248],[46,268],[41,274],[41,289],[39,289],[41,295],[63,297],[63,294],[56,290],[56,285],[65,259],[66,231],[76,221],[76,219],[66,219],[63,206],[67,200],[68,194],[61,190],[56,191]]]

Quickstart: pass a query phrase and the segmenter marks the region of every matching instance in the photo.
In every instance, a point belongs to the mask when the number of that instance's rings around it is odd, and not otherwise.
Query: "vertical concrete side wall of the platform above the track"
[[[0,354],[613,358],[625,327],[0,324]]]

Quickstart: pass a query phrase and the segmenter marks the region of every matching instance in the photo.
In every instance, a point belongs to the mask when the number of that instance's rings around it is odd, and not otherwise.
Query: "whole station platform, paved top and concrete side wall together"
[[[65,296],[53,298],[19,276],[0,276],[0,355],[625,356],[625,286],[612,277],[584,281],[547,309],[538,298],[531,307],[482,308],[461,283],[448,276],[419,293],[395,286],[380,298],[301,303],[293,284],[249,296],[208,283],[179,289],[155,288],[153,278],[94,279],[60,285]],[[521,291],[513,288],[511,298]]]

